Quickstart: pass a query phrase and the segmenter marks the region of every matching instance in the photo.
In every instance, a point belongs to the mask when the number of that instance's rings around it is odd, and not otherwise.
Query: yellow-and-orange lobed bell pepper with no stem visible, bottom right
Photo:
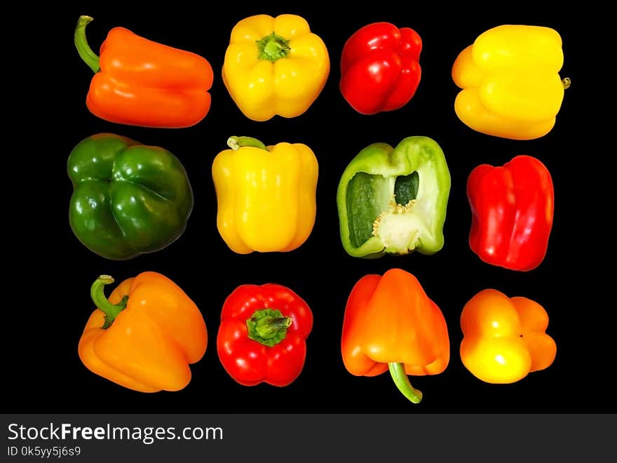
[[[482,290],[461,313],[461,361],[484,382],[517,382],[555,361],[557,344],[547,327],[548,314],[537,302]]]

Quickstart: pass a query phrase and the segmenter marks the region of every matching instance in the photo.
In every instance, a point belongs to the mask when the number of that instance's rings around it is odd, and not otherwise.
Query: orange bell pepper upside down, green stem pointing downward
[[[365,275],[347,300],[341,353],[352,375],[390,370],[400,392],[419,403],[422,393],[407,375],[437,375],[446,369],[450,344],[445,318],[407,271]]]

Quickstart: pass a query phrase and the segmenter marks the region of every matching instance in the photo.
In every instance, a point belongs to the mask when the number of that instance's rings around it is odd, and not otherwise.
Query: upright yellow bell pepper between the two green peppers
[[[313,230],[318,163],[301,143],[230,137],[212,163],[217,228],[234,253],[286,252]]]

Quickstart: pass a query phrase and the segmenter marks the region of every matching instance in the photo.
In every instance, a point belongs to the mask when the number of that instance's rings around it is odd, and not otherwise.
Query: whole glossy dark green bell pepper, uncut
[[[67,169],[74,188],[69,223],[94,253],[130,259],[161,250],[184,232],[193,190],[167,150],[99,133],[74,147]]]

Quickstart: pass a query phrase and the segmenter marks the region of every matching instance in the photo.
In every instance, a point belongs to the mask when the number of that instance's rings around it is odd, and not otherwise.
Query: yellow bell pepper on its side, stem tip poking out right
[[[560,34],[550,27],[502,25],[465,48],[452,67],[461,92],[454,110],[478,132],[513,140],[542,137],[555,126],[564,88]]]

